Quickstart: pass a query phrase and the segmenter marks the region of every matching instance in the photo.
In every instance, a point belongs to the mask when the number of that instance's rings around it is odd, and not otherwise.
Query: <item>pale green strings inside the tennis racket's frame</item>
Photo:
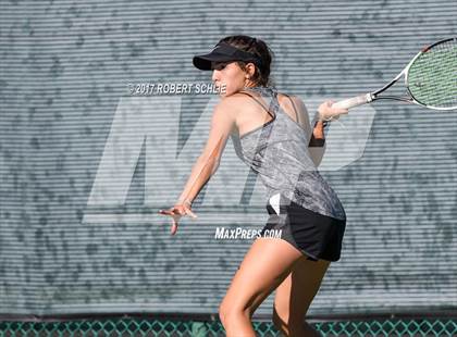
[[[417,101],[457,108],[457,42],[443,41],[420,54],[408,71],[408,89]]]

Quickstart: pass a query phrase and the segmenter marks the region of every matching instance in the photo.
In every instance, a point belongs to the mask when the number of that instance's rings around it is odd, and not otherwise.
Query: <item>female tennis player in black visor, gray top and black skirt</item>
[[[171,233],[181,216],[197,217],[193,200],[217,171],[228,137],[237,155],[267,187],[267,225],[252,242],[219,308],[227,336],[256,336],[251,316],[273,291],[274,325],[287,336],[319,336],[305,322],[332,261],[339,260],[346,214],[316,168],[324,151],[324,121],[347,113],[325,101],[313,128],[304,102],[271,86],[271,51],[264,41],[237,35],[221,39],[194,65],[212,71],[221,89],[202,153],[174,207]],[[225,91],[223,89],[225,88]],[[269,238],[268,229],[281,229]]]

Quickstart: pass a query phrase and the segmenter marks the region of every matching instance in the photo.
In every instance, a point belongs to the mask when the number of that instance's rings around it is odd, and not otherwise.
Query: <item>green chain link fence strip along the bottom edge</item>
[[[313,325],[322,336],[457,336],[457,319],[334,321]],[[254,322],[257,336],[282,336],[272,323]],[[219,321],[109,319],[65,322],[0,322],[0,336],[225,336]]]

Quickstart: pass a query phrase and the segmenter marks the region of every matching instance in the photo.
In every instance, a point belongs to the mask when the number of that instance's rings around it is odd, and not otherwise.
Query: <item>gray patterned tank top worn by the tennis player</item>
[[[245,135],[231,135],[231,138],[236,155],[267,187],[268,200],[284,196],[308,210],[345,221],[339,199],[310,158],[306,130],[282,110],[277,91],[272,87],[250,87],[245,91],[252,91],[249,96],[259,103],[270,103],[268,112],[272,120]]]

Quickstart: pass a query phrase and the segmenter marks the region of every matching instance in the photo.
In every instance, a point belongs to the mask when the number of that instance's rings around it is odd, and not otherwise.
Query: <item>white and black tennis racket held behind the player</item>
[[[406,95],[380,96],[405,76]],[[416,103],[434,110],[457,109],[457,37],[423,48],[408,65],[381,89],[333,104],[349,109],[379,99]]]

